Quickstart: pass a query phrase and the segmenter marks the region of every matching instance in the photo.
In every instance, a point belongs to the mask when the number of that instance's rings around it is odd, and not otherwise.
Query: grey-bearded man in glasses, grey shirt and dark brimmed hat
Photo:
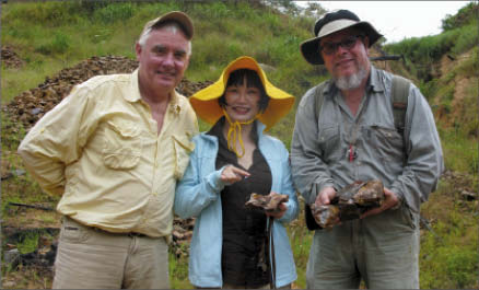
[[[358,288],[363,280],[367,288],[417,289],[419,208],[444,166],[431,108],[410,81],[371,65],[369,49],[382,35],[351,11],[325,14],[314,34],[301,53],[331,79],[297,107],[295,186],[307,204],[327,206],[354,181],[381,179],[385,200],[361,219],[316,230],[307,288]]]

